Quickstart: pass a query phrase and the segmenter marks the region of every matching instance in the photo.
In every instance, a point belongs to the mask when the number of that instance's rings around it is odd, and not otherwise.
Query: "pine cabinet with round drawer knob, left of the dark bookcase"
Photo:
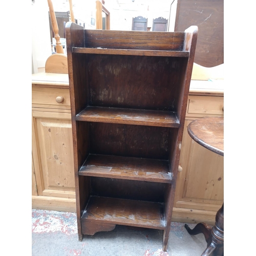
[[[75,211],[67,74],[32,76],[32,207]]]

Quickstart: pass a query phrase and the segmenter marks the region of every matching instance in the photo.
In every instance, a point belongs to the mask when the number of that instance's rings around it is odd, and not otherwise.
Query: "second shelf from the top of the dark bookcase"
[[[88,106],[85,110],[76,115],[76,120],[161,127],[179,127],[179,121],[175,113],[170,111]]]

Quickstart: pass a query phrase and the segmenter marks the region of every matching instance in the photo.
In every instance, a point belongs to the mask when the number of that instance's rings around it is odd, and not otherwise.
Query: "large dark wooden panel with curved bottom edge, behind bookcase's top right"
[[[179,0],[175,31],[198,26],[195,62],[203,67],[224,63],[224,1]]]

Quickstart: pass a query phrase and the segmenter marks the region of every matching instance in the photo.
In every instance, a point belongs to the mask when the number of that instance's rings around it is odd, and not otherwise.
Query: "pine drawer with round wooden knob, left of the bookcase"
[[[69,109],[69,89],[32,87],[32,107]]]

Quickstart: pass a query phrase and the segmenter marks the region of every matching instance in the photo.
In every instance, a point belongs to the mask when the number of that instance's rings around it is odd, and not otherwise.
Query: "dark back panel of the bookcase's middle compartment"
[[[90,123],[90,153],[168,160],[167,127]]]

